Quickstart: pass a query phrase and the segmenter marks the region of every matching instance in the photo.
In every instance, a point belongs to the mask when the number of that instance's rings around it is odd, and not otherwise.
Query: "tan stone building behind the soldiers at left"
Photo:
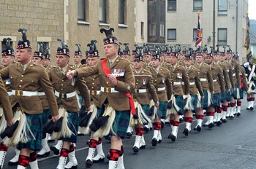
[[[83,55],[89,50],[87,44],[95,39],[99,54],[104,57],[105,34],[100,34],[99,29],[114,28],[113,35],[119,42],[134,44],[134,9],[135,1],[129,0],[2,0],[0,41],[10,37],[15,47],[21,39],[18,28],[26,28],[33,50],[38,50],[37,42],[50,47],[53,65],[56,49],[60,47],[58,38],[66,42],[71,54],[79,43]]]

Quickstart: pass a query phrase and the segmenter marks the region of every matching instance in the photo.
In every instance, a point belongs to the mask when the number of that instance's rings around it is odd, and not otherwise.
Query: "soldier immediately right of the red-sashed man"
[[[143,55],[141,52],[139,52],[138,55],[135,55],[134,58],[134,63],[133,63],[133,68],[134,71],[133,73],[135,75],[135,93],[133,95],[133,98],[135,101],[137,101],[141,108],[143,109],[144,113],[149,116],[149,104],[150,98],[153,99],[154,101],[154,106],[158,106],[159,101],[157,98],[157,91],[154,87],[154,81],[151,75],[150,71],[147,71],[146,69],[143,68]],[[138,106],[138,109],[140,108]],[[143,149],[146,146],[146,142],[144,140],[144,131],[143,131],[143,124],[138,122],[137,125],[135,125],[135,132],[136,132],[136,137],[135,137],[135,144],[133,146],[133,152],[139,152],[139,149]]]

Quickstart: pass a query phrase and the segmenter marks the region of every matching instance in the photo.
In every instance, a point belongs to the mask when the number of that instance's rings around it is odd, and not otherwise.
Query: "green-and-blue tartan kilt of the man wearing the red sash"
[[[114,119],[112,128],[111,128],[111,135],[116,135],[121,139],[125,138],[127,134],[127,129],[129,126],[129,118],[131,115],[131,111],[116,111],[116,117]]]

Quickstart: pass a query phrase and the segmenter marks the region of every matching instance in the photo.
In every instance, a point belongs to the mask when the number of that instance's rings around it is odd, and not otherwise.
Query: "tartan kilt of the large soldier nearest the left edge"
[[[26,113],[25,113],[26,114]],[[26,143],[19,143],[18,149],[31,149],[39,151],[42,149],[42,113],[41,114],[26,114],[27,127],[31,130],[27,130],[29,141]]]

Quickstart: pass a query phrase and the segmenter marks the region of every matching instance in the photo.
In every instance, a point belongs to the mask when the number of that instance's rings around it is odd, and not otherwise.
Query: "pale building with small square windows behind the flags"
[[[239,52],[243,60],[246,58],[244,40],[248,0],[167,0],[166,9],[167,44],[195,48],[199,11],[203,44],[208,50],[217,44],[230,45],[233,52]]]

